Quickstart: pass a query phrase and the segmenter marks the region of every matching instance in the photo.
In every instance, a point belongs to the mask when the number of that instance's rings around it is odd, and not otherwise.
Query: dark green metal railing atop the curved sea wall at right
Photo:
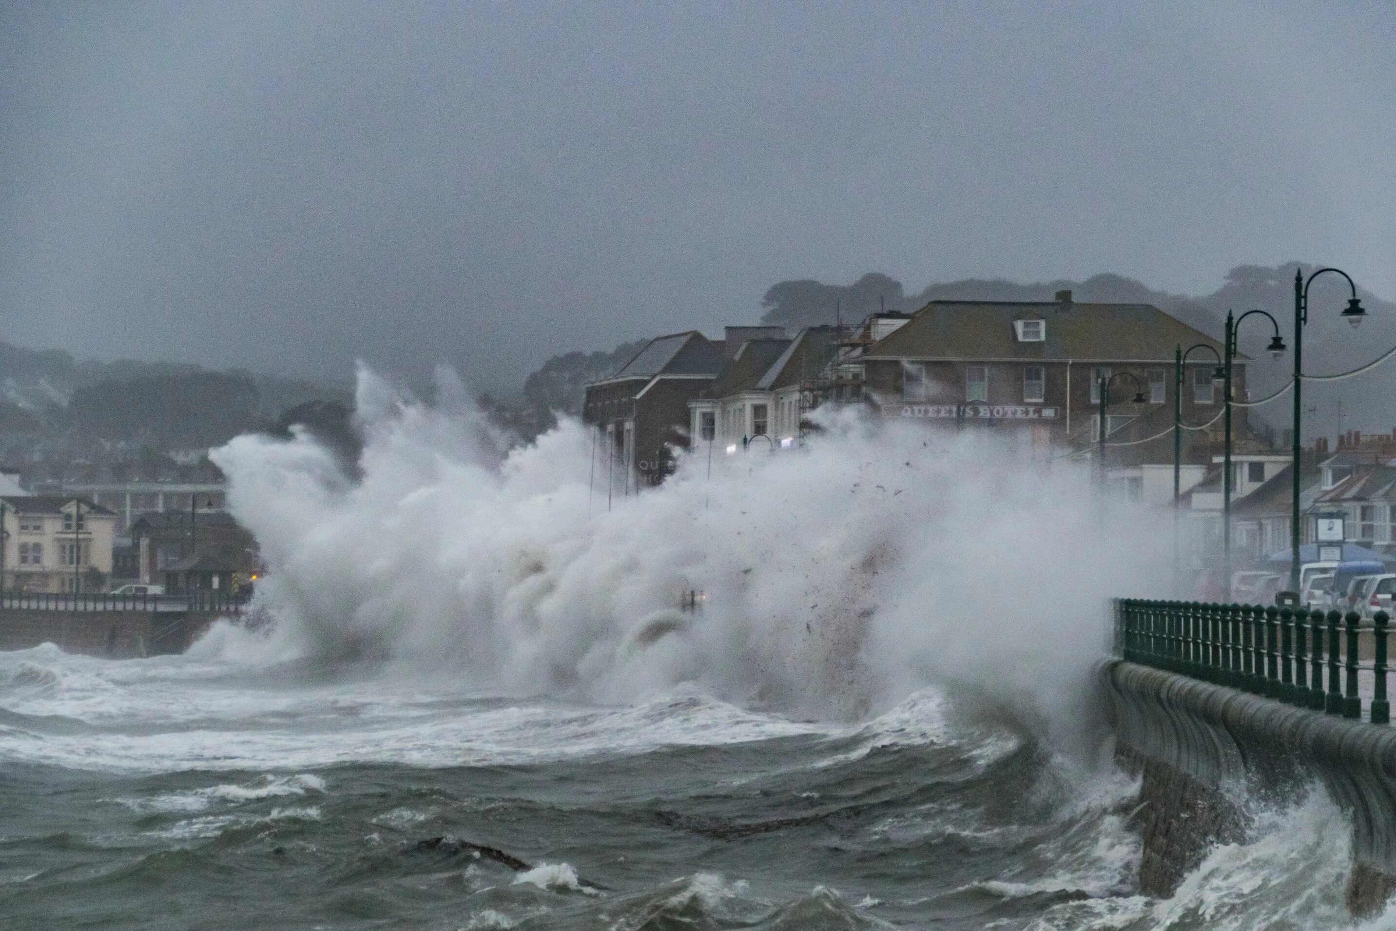
[[[1372,618],[1371,662],[1360,656],[1361,620],[1356,611],[1120,599],[1115,643],[1131,663],[1343,717],[1362,716],[1361,674],[1372,683],[1369,719],[1386,724],[1390,617]]]

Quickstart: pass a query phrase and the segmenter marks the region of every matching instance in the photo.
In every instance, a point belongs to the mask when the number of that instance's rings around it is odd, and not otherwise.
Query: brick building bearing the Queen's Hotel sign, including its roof
[[[1128,441],[1173,426],[1174,350],[1198,343],[1210,352],[1192,352],[1184,367],[1182,420],[1202,424],[1222,409],[1213,375],[1223,345],[1150,304],[1075,303],[1071,292],[1054,301],[931,301],[870,346],[857,374],[882,417],[995,429],[1034,447],[1097,438],[1104,378],[1111,385],[1107,437]],[[1238,398],[1245,396],[1245,363],[1235,360]],[[1244,431],[1244,412],[1233,417]],[[1185,433],[1185,455],[1210,452],[1219,431],[1220,424],[1212,434]],[[1168,434],[1121,456],[1167,462],[1171,444]]]

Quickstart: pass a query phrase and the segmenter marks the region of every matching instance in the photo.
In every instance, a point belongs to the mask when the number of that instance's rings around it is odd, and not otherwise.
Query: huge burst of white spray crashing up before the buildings
[[[817,716],[952,680],[1061,722],[1108,646],[1108,599],[1168,578],[1161,515],[1107,509],[1090,466],[987,431],[831,416],[801,449],[719,449],[709,475],[704,448],[607,507],[586,427],[501,455],[440,381],[427,406],[360,373],[357,484],[306,435],[216,451],[271,565],[279,649],[515,695],[691,683]],[[701,611],[680,613],[688,590]]]

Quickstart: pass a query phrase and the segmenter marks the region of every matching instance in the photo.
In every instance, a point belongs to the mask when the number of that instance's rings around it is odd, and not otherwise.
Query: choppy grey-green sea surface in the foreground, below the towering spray
[[[40,648],[0,653],[0,927],[1349,924],[1322,796],[1157,902],[1132,789],[930,690],[826,724]]]

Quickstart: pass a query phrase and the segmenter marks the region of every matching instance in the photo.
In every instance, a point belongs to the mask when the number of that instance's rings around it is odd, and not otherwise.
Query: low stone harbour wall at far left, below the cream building
[[[0,650],[53,643],[66,653],[128,659],[181,653],[218,616],[183,611],[0,609]]]

